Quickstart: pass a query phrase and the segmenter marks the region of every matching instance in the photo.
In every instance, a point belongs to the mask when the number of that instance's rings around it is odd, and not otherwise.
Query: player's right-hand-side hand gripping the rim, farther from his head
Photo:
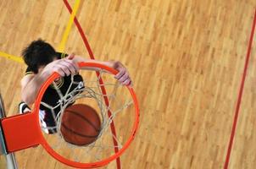
[[[114,63],[113,68],[119,71],[119,73],[116,74],[114,78],[117,79],[122,85],[131,86],[132,85],[131,78],[125,66],[120,62],[113,62],[113,63]]]

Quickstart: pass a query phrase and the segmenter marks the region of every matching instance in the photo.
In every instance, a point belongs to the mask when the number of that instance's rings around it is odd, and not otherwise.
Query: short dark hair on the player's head
[[[35,74],[38,73],[40,66],[45,66],[48,63],[53,62],[53,58],[56,57],[56,52],[50,44],[46,41],[38,39],[32,41],[22,52],[25,63],[31,68],[31,71]]]

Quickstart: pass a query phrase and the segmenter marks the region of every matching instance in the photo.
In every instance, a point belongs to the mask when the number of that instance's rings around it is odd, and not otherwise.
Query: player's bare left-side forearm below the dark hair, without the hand
[[[51,74],[48,74],[47,72],[36,74],[35,77],[21,90],[21,99],[29,105],[33,104],[42,84],[50,75]]]

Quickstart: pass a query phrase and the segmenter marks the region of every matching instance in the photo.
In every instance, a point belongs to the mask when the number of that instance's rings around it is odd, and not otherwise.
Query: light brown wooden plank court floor
[[[140,102],[140,129],[121,157],[124,169],[224,168],[255,8],[255,0],[81,1],[76,16],[95,57],[124,63]],[[60,0],[0,0],[0,9],[0,52],[15,56],[39,37],[58,47],[70,17]],[[255,37],[231,169],[256,166]],[[75,25],[65,52],[89,57]],[[24,72],[25,64],[0,57],[8,116],[18,112]],[[42,148],[16,158],[21,169],[67,168]]]

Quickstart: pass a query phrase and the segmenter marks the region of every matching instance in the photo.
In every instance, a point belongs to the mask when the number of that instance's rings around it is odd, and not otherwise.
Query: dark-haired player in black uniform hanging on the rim
[[[75,87],[83,88],[83,79],[79,72],[77,63],[101,63],[110,68],[115,68],[119,71],[114,76],[122,85],[131,85],[131,79],[129,77],[127,69],[116,61],[102,62],[92,59],[85,59],[83,57],[76,56],[74,54],[65,54],[55,52],[53,46],[46,41],[37,40],[32,41],[22,52],[23,59],[27,64],[25,76],[21,79],[21,100],[19,103],[19,113],[31,112],[28,105],[31,105],[36,100],[37,92],[40,90],[41,85],[45,80],[57,72],[60,74],[60,78],[54,82],[57,85],[58,90],[65,94],[71,83],[71,75],[74,75],[74,81],[78,82],[78,85],[71,85],[70,90],[74,90]],[[86,68],[96,70],[97,68]],[[42,96],[42,101],[49,106],[56,106],[59,100],[59,96],[56,90],[56,86],[50,85],[45,94]],[[60,107],[57,106],[54,110],[49,109],[47,106],[40,106],[39,117],[44,128],[44,132],[47,134],[54,134],[57,132],[56,123],[53,117],[53,113],[58,113]]]

